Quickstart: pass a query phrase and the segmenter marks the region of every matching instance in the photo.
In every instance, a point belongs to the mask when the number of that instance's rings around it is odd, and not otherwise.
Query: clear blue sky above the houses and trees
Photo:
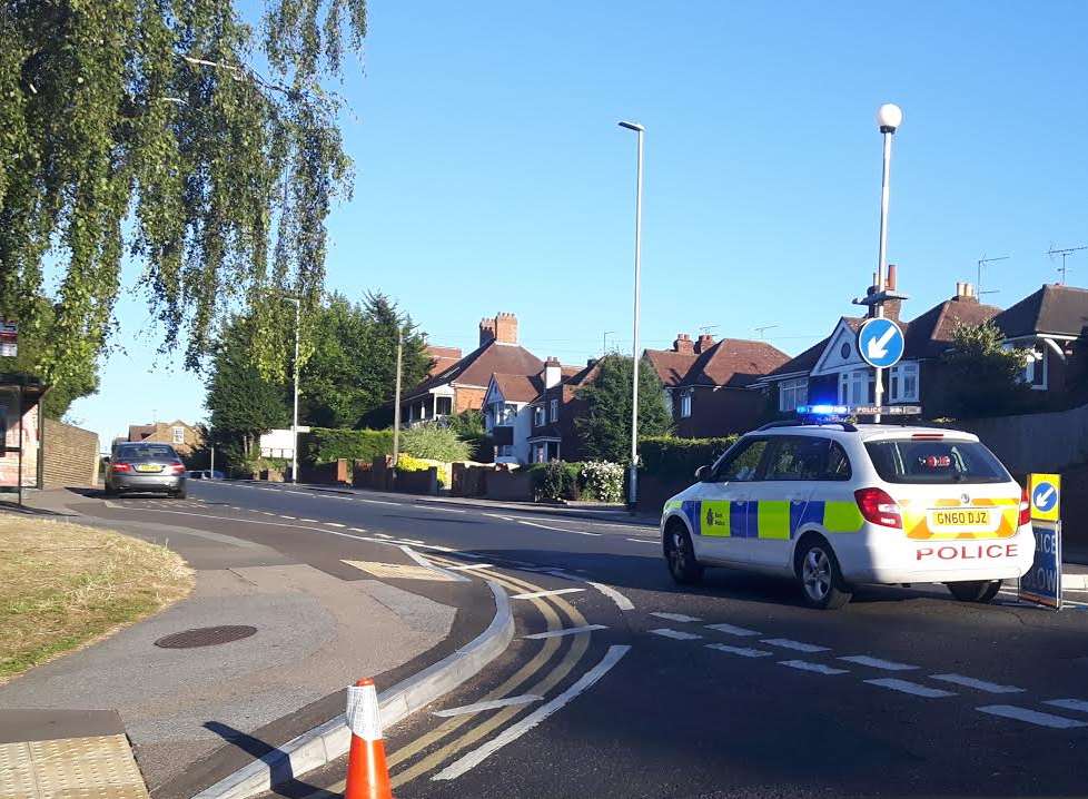
[[[902,106],[889,259],[913,317],[985,279],[1010,305],[1088,244],[1088,4],[475,3],[372,0],[344,85],[354,199],[329,221],[328,287],[397,298],[436,344],[517,314],[538,356],[630,348],[634,134],[646,126],[643,344],[716,325],[797,353],[877,260],[881,102]],[[1088,285],[1088,251],[1069,260]],[[128,276],[133,280],[135,274]],[[205,417],[204,389],[120,307],[103,440]]]

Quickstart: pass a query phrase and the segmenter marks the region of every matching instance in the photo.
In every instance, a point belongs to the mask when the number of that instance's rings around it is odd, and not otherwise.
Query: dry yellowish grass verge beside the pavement
[[[165,546],[109,530],[0,514],[0,684],[186,596]]]

